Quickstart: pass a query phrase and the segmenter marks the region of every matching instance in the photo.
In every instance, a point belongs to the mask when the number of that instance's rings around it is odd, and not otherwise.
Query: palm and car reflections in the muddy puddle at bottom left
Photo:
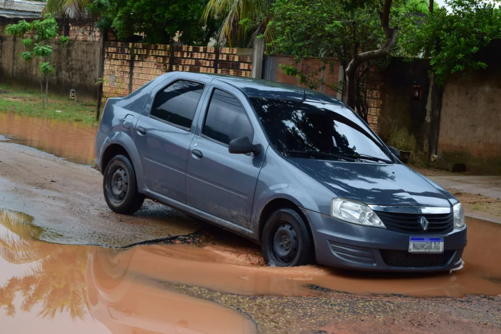
[[[23,324],[11,319],[25,313],[32,314],[32,328],[38,328],[35,323],[43,318],[54,318],[51,332],[62,328],[73,332],[57,317],[59,313],[68,314],[78,328],[85,324],[83,332],[93,333],[257,332],[254,322],[237,311],[139,274],[131,265],[134,249],[41,242],[40,228],[31,222],[32,217],[23,213],[0,210],[0,255],[5,260],[0,258],[0,267],[32,264],[24,274],[0,281],[0,307],[7,316],[0,314],[2,333],[22,332]],[[99,322],[91,322],[87,313]]]

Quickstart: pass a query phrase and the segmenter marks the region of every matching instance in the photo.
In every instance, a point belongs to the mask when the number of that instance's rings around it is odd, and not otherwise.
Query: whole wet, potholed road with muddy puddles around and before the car
[[[451,273],[273,268],[151,201],[111,213],[101,180],[0,142],[0,333],[501,333],[501,224],[468,219]]]

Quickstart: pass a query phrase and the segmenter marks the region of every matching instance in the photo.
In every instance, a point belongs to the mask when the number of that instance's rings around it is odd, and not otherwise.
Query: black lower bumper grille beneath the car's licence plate
[[[441,254],[416,254],[406,250],[381,249],[384,263],[391,267],[442,267],[449,262],[454,250],[446,250]]]

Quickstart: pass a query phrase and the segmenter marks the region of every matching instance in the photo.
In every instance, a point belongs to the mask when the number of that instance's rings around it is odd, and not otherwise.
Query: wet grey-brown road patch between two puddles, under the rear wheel
[[[151,201],[135,216],[114,214],[97,170],[9,141],[0,142],[0,207],[33,216],[41,240],[65,244],[124,247],[199,228]]]

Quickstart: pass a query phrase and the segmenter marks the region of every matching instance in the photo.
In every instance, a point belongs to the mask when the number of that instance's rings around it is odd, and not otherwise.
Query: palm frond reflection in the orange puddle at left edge
[[[0,256],[14,264],[36,262],[24,276],[12,277],[0,287],[0,307],[14,316],[14,299],[21,292],[22,311],[29,312],[41,303],[43,317],[54,317],[63,311],[72,318],[83,317],[87,248],[38,241],[43,230],[32,225],[32,220],[23,213],[0,209],[0,224],[7,229],[0,234]]]

